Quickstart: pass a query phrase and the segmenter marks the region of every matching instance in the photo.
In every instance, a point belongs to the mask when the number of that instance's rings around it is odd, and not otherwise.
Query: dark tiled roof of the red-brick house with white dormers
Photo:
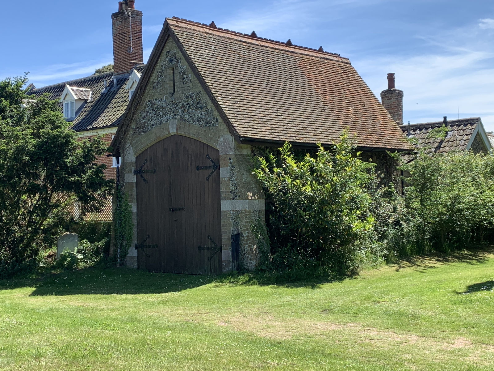
[[[140,65],[135,67],[135,69],[138,72],[142,72],[144,67],[145,65]],[[122,121],[122,115],[128,104],[128,91],[125,89],[125,85],[129,76],[129,73],[117,76],[117,84],[114,86],[113,72],[106,72],[39,89],[32,89],[28,94],[40,96],[41,94],[48,93],[49,99],[58,101],[67,84],[81,99],[90,98],[74,119],[73,130],[82,132],[118,126]],[[60,110],[62,110],[62,103],[59,103],[59,106]]]

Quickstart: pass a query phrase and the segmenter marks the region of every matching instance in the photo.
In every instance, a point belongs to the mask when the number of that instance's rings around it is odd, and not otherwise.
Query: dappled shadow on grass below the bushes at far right
[[[466,263],[482,264],[489,260],[488,255],[494,253],[494,246],[478,249],[453,251],[449,254],[435,253],[430,255],[414,256],[395,263],[396,271],[411,268],[414,271],[425,273],[429,269],[439,268],[443,264]]]

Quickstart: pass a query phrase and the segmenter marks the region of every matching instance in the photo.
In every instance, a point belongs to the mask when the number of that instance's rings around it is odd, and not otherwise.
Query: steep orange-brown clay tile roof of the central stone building
[[[332,143],[348,127],[359,147],[411,148],[347,58],[166,22],[241,140]]]

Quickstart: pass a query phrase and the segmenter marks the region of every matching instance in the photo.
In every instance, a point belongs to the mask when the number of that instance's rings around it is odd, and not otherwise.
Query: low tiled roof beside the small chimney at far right
[[[432,133],[433,129],[441,128],[443,124],[448,132],[446,138],[440,138]],[[470,117],[466,119],[447,120],[438,122],[427,122],[410,125],[409,137],[417,140],[418,148],[428,147],[426,152],[444,153],[452,150],[469,149],[470,140],[477,133],[477,126],[482,127],[480,117]],[[408,135],[408,125],[400,125],[400,129]],[[480,129],[480,128],[479,128]]]

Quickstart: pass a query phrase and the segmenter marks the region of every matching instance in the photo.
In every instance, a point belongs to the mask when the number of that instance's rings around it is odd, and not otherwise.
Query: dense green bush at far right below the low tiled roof
[[[407,186],[395,251],[449,252],[494,242],[493,156],[420,151],[400,168]]]

